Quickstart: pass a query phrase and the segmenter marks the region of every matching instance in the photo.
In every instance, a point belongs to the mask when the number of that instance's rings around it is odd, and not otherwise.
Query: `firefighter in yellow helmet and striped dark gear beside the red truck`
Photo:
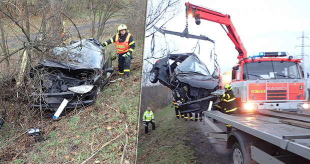
[[[221,96],[221,100],[218,103],[218,105],[214,106],[215,109],[226,113],[226,114],[233,114],[237,112],[237,102],[235,100],[235,96],[232,89],[232,86],[230,84],[226,84],[224,86],[225,93]],[[214,122],[214,119],[213,119]],[[227,132],[231,131],[231,125],[226,124],[226,130]]]

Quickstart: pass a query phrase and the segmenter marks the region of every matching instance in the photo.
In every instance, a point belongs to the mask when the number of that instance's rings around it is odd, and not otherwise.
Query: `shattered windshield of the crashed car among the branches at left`
[[[80,41],[78,41],[65,47],[55,47],[53,52],[55,55],[60,56],[62,61],[81,63],[100,68],[100,63],[103,59],[101,48],[87,39],[82,39],[81,41],[81,46]]]

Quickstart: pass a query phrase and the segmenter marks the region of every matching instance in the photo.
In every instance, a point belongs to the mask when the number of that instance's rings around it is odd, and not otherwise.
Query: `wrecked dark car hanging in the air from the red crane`
[[[169,60],[173,62],[169,64]],[[158,59],[150,71],[149,80],[169,87],[181,112],[198,113],[208,107],[210,100],[217,99],[211,95],[219,88],[219,76],[215,74],[211,75],[194,53],[177,53]]]

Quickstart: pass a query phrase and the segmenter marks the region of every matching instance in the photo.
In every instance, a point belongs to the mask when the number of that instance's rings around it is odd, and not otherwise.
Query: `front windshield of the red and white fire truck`
[[[243,79],[301,78],[299,66],[291,61],[257,61],[243,64]]]

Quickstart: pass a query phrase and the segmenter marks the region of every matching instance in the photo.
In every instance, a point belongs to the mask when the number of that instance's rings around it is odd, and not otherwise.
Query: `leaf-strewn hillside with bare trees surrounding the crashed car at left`
[[[4,118],[0,129],[0,163],[134,163],[145,9],[143,0],[0,1],[0,26],[3,26],[0,28],[0,116]],[[43,11],[51,14],[45,15],[44,30],[41,28]],[[138,16],[130,17],[133,15]],[[30,107],[28,96],[33,84],[27,73],[37,61],[51,57],[52,47],[61,46],[63,20],[66,44],[90,37],[103,42],[116,33],[120,23],[125,23],[136,47],[128,80],[119,79],[114,60],[110,80],[115,81],[101,89],[95,104],[64,113],[56,120],[46,119],[44,116],[51,114],[48,110]],[[102,21],[106,24],[98,25]],[[99,27],[102,31],[98,31]],[[46,32],[48,35],[44,35]],[[45,37],[38,39],[39,36]],[[24,49],[27,49],[27,66],[17,86]],[[106,48],[107,54],[115,52],[113,45]],[[27,130],[32,127],[39,127],[41,135],[28,136]]]

